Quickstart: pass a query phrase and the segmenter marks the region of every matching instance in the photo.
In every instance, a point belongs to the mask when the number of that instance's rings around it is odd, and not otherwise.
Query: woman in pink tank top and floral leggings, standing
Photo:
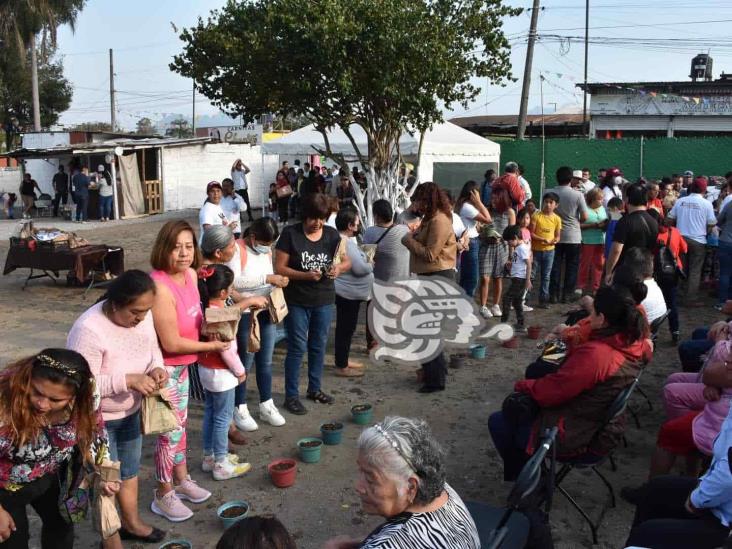
[[[219,352],[228,342],[199,341],[201,303],[195,268],[198,247],[191,226],[183,220],[168,221],[153,245],[150,263],[156,294],[153,305],[155,331],[170,378],[166,386],[180,426],[158,436],[155,446],[155,491],[151,509],[172,522],[193,516],[181,500],[201,503],[211,493],[198,486],[186,467],[186,423],[188,419],[188,369],[198,353]]]

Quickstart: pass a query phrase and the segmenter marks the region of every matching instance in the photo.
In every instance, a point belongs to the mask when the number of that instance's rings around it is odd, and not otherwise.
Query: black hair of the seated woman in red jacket
[[[629,288],[619,284],[597,291],[595,312],[605,317],[606,335],[623,334],[628,344],[646,337],[648,322],[638,310],[635,297]]]

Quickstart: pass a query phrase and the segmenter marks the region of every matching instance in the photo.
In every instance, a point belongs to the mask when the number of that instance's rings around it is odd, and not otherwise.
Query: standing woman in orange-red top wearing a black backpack
[[[668,327],[674,344],[679,342],[679,305],[676,294],[679,285],[680,273],[683,273],[681,254],[688,250],[686,241],[676,227],[663,224],[661,215],[655,209],[647,210],[648,214],[658,223],[658,250],[654,258],[655,279],[663,292],[668,308]],[[675,272],[671,272],[670,265],[676,261]],[[666,266],[667,268],[664,268]]]

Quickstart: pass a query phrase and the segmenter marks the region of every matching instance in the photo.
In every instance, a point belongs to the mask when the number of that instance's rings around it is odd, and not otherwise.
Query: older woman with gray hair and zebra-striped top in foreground
[[[363,541],[338,537],[324,549],[480,549],[470,513],[445,482],[442,449],[425,421],[391,416],[366,429],[356,463],[364,512],[386,522]]]

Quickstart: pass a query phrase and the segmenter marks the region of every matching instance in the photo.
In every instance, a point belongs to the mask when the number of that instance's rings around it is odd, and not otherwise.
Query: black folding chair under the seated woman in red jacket
[[[628,400],[630,399],[637,385],[638,378],[635,378],[630,385],[628,385],[618,394],[617,397],[615,397],[615,400],[607,410],[602,427],[595,434],[596,437],[599,436],[600,433],[602,433],[607,425],[609,425],[613,420],[619,418],[625,412],[625,409],[628,406]],[[572,458],[570,460],[557,460],[561,465],[561,469],[559,469],[559,472],[556,475],[554,487],[559,490],[559,492],[565,498],[567,498],[569,503],[572,504],[572,507],[577,509],[580,515],[582,515],[582,518],[585,519],[585,522],[587,522],[587,524],[590,526],[590,530],[592,531],[592,542],[594,544],[597,544],[597,531],[600,527],[600,523],[602,522],[602,518],[605,515],[605,511],[607,511],[607,507],[603,506],[603,509],[600,511],[600,515],[598,516],[597,520],[593,521],[590,518],[590,515],[588,515],[587,512],[579,505],[579,503],[577,503],[577,501],[569,494],[569,492],[567,492],[567,490],[562,487],[562,481],[567,478],[567,475],[569,475],[569,473],[571,473],[575,469],[589,469],[600,478],[602,483],[607,488],[610,494],[610,507],[614,508],[615,490],[613,489],[612,484],[610,484],[610,481],[608,481],[605,475],[603,475],[598,469],[598,467],[602,465],[605,461],[609,461],[613,469],[615,469],[615,462],[612,456],[614,451],[615,449],[613,448],[610,452],[603,456],[596,456],[588,453]]]

